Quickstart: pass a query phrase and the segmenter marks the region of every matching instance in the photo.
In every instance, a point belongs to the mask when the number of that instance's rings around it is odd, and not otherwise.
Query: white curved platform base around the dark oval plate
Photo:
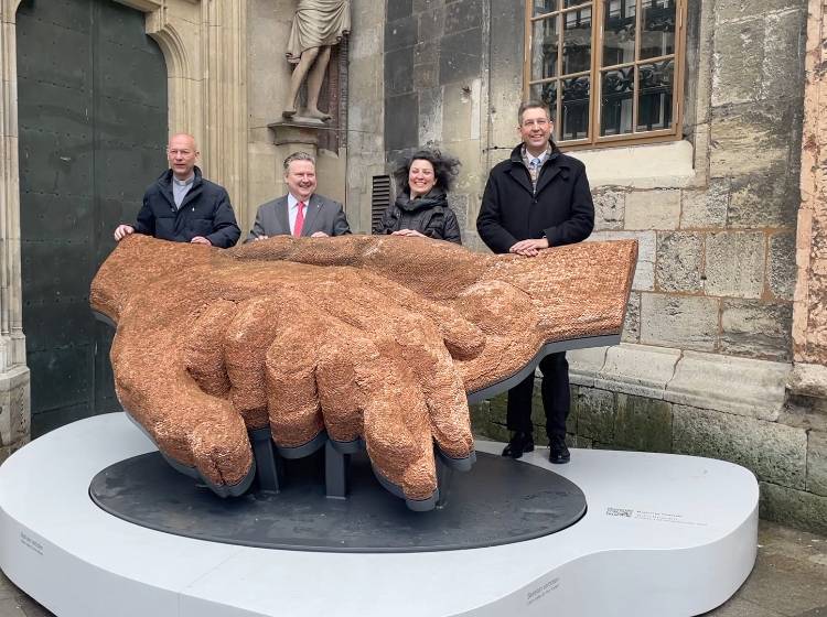
[[[92,502],[95,474],[153,448],[115,413],[11,456],[0,467],[9,578],[60,617],[689,617],[727,600],[755,561],[758,483],[720,461],[574,450],[554,466],[588,500],[569,529],[488,549],[354,554],[180,538]],[[547,452],[515,465],[545,467]]]

